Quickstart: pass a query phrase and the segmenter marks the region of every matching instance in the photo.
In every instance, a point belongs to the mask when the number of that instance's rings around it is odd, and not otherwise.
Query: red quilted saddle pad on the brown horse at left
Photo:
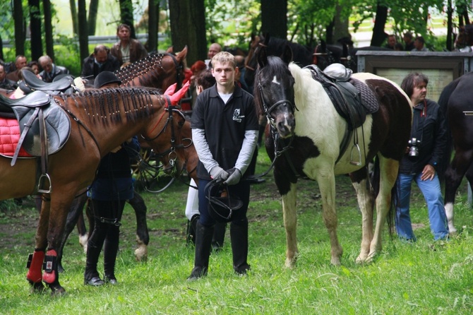
[[[20,140],[20,126],[16,119],[0,117],[0,155],[13,157],[16,145]],[[23,148],[20,148],[19,157],[32,157]]]

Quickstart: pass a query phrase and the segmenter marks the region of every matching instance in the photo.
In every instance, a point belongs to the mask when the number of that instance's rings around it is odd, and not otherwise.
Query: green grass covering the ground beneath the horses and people
[[[260,151],[258,172],[268,167]],[[83,285],[85,254],[71,234],[64,249],[64,297],[30,294],[25,263],[34,247],[34,229],[15,233],[14,244],[1,244],[1,314],[471,314],[473,307],[473,213],[465,196],[457,198],[459,234],[433,242],[419,190],[412,196],[417,243],[383,235],[383,252],[370,265],[354,263],[361,242],[361,215],[347,177],[337,177],[338,235],[342,266],[330,265],[330,244],[315,182],[301,181],[298,208],[299,260],[287,269],[280,198],[271,176],[252,186],[249,209],[248,276],[232,271],[227,231],[224,249],[210,257],[206,278],[186,281],[193,248],[185,244],[187,187],[175,183],[162,194],[143,193],[148,205],[149,258],[133,257],[136,223],[129,206],[121,228],[117,286]],[[462,190],[465,193],[465,185]],[[30,210],[33,211],[33,210]],[[32,212],[34,213],[34,212]],[[28,210],[5,213],[0,224],[18,217],[34,220]],[[21,222],[21,221],[20,221]],[[385,229],[387,230],[387,229]],[[3,239],[3,237],[2,237]],[[13,242],[13,241],[12,241]],[[102,257],[101,257],[102,259]],[[102,261],[100,261],[101,265]]]

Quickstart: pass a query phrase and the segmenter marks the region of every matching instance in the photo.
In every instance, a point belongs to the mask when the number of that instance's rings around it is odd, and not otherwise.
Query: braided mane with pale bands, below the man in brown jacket
[[[121,80],[122,85],[126,85],[137,76],[143,76],[143,79],[149,80],[150,77],[159,76],[157,69],[162,69],[164,56],[167,56],[167,54],[150,54],[146,58],[133,62],[133,64],[128,64],[128,66],[116,71],[115,74]]]

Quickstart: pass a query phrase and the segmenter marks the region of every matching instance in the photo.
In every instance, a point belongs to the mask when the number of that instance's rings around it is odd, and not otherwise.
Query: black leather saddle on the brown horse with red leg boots
[[[71,133],[71,121],[68,114],[56,104],[51,95],[42,91],[34,91],[18,100],[10,100],[0,95],[0,112],[13,113],[20,125],[20,147],[30,155],[42,156],[41,129],[47,139],[47,154],[60,150]],[[8,116],[8,115],[7,115]],[[18,153],[13,155],[15,164]]]

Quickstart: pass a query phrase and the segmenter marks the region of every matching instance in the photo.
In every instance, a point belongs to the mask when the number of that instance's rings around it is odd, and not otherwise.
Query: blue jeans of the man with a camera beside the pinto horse
[[[427,203],[429,221],[433,239],[448,237],[447,216],[443,206],[443,197],[437,174],[432,180],[421,180],[419,174],[399,174],[397,176],[396,231],[399,237],[415,241],[409,216],[409,202],[412,181],[415,181]]]

